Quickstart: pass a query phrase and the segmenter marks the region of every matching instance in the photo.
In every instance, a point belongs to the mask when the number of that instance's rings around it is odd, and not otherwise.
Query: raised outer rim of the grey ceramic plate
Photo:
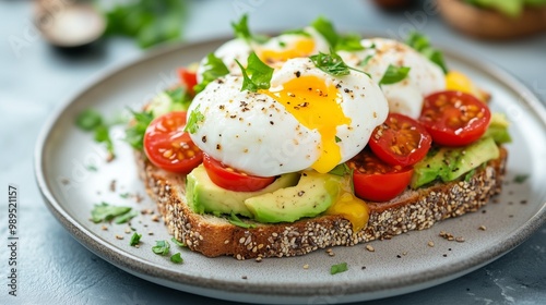
[[[233,280],[222,280],[222,279],[203,279],[197,276],[185,274],[181,272],[176,272],[167,269],[164,266],[147,261],[136,255],[124,252],[123,249],[110,245],[103,241],[98,235],[93,233],[90,229],[85,228],[83,224],[79,223],[74,218],[72,218],[69,212],[61,206],[61,204],[55,198],[54,194],[48,187],[47,178],[45,176],[44,151],[47,146],[47,139],[50,137],[56,123],[59,118],[68,111],[70,106],[74,103],[79,98],[81,98],[85,93],[92,88],[99,86],[100,83],[106,82],[110,77],[115,77],[118,73],[123,72],[136,64],[142,64],[150,60],[154,60],[157,57],[171,53],[171,52],[182,52],[188,49],[198,48],[199,46],[221,44],[232,39],[228,36],[222,36],[216,38],[205,38],[200,40],[194,40],[192,42],[183,42],[176,45],[167,45],[164,47],[151,50],[147,53],[139,56],[127,62],[116,64],[109,69],[105,69],[103,72],[94,75],[86,84],[84,84],[79,90],[76,90],[72,96],[68,97],[60,106],[52,111],[49,119],[43,125],[43,129],[37,137],[36,146],[34,150],[34,174],[35,180],[40,191],[41,197],[46,203],[46,206],[56,217],[56,219],[67,229],[67,231],[79,241],[84,247],[90,249],[95,255],[102,257],[108,263],[115,265],[116,267],[129,271],[130,273],[150,280],[150,278],[158,278],[167,283],[162,283],[174,289],[178,289],[178,285],[194,286],[200,289],[211,289],[213,291],[222,291],[225,293],[235,294],[259,294],[259,295],[275,295],[280,292],[285,296],[294,297],[309,297],[316,295],[331,295],[328,293],[331,284],[296,284],[290,283],[289,286],[286,284],[272,284],[272,283],[253,283],[253,282],[236,282]],[[498,81],[502,86],[509,88],[512,91],[518,93],[523,96],[521,100],[529,106],[530,110],[534,111],[534,115],[543,126],[546,126],[546,107],[539,101],[534,93],[532,93],[527,86],[523,84],[515,76],[503,70],[502,68],[491,63],[488,60],[474,60],[470,56],[465,56],[460,51],[448,50],[447,48],[441,48],[442,52],[447,58],[452,58],[464,64],[470,64],[474,66],[477,71],[487,74],[489,77]],[[497,244],[492,248],[488,248],[487,252],[483,252],[479,255],[473,257],[472,260],[477,261],[474,264],[460,261],[455,265],[450,265],[448,267],[449,272],[444,269],[431,269],[428,272],[423,272],[423,274],[413,274],[406,277],[405,281],[395,281],[390,283],[377,283],[372,282],[366,284],[358,281],[353,282],[339,282],[345,285],[344,293],[346,296],[351,295],[365,295],[378,293],[381,291],[393,291],[393,290],[404,290],[410,286],[425,284],[430,281],[436,281],[437,283],[442,283],[450,280],[452,274],[458,274],[455,278],[466,274],[490,261],[499,258],[500,256],[509,253],[511,249],[515,248],[519,244],[523,243],[529,239],[541,225],[546,223],[546,202],[542,203],[542,207],[523,224],[521,224],[517,230],[512,231],[505,239],[505,243]],[[468,266],[471,265],[471,266]],[[174,284],[168,284],[168,283]],[[288,289],[289,288],[289,289]],[[418,290],[418,289],[417,289]],[[183,290],[190,292],[189,290]],[[410,290],[415,291],[415,290]],[[410,292],[406,291],[406,292]],[[405,292],[400,292],[391,295],[396,295]],[[225,298],[228,300],[228,298]],[[238,300],[238,298],[237,298]],[[361,300],[361,298],[359,298]]]

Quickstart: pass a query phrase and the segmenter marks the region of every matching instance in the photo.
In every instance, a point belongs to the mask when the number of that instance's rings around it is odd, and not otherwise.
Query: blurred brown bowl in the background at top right
[[[525,8],[518,17],[471,5],[461,0],[437,0],[440,14],[454,28],[487,39],[513,39],[546,33],[546,7]]]

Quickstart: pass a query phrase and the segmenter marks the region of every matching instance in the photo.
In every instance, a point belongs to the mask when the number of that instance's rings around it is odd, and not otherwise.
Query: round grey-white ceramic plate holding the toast
[[[206,296],[251,303],[334,303],[391,296],[436,285],[475,270],[522,243],[546,215],[546,110],[517,80],[490,65],[447,53],[449,65],[470,75],[492,95],[491,108],[508,113],[513,143],[508,145],[507,183],[502,194],[480,211],[451,219],[425,231],[410,232],[390,241],[336,247],[294,258],[261,263],[232,257],[206,258],[181,249],[185,263],[175,265],[151,247],[170,240],[161,222],[139,216],[132,227],[143,233],[140,248],[129,246],[127,225],[91,222],[94,204],[107,202],[139,210],[154,208],[145,196],[124,144],[122,127],[112,130],[118,157],[105,162],[105,149],[92,135],[78,130],[74,118],[94,108],[114,118],[127,107],[139,109],[157,91],[176,82],[175,70],[200,60],[223,40],[159,50],[118,68],[67,101],[46,125],[36,147],[36,176],[51,212],[84,246],[115,266],[138,277],[174,289]],[[88,168],[96,167],[96,171]],[[523,183],[514,176],[529,174]],[[110,184],[116,181],[116,190]],[[144,200],[122,198],[138,193]],[[486,231],[478,230],[480,225]],[[443,230],[464,236],[449,242]],[[149,235],[153,232],[153,235]],[[123,236],[118,240],[115,235]],[[427,246],[428,241],[435,243]],[[178,249],[177,249],[178,251]],[[345,261],[349,270],[330,274],[330,267]],[[304,269],[308,265],[308,269]]]

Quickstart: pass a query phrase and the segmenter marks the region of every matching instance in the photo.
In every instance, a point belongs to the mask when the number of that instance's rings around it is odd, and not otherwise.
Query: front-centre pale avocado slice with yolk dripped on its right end
[[[342,180],[334,174],[304,171],[296,186],[250,197],[245,205],[260,222],[293,222],[314,217],[336,200]]]

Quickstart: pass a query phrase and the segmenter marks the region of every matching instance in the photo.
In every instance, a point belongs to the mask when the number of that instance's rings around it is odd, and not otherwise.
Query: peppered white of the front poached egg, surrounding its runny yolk
[[[299,73],[296,73],[299,72]],[[275,71],[271,90],[299,76],[317,76],[339,87],[340,105],[349,124],[339,125],[336,136],[344,162],[368,143],[373,129],[388,115],[387,99],[366,74],[352,71],[333,77],[308,58],[288,60]],[[241,91],[242,77],[227,75],[211,83],[188,110],[199,107],[204,120],[192,141],[214,159],[259,176],[272,176],[311,167],[320,156],[321,135],[304,126],[272,97]]]

